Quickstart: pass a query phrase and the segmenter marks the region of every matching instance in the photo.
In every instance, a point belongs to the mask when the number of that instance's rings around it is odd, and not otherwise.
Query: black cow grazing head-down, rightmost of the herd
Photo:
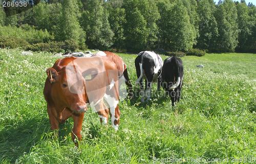
[[[171,97],[173,106],[175,106],[176,101],[180,100],[183,75],[183,65],[180,58],[171,57],[164,60],[161,85]]]

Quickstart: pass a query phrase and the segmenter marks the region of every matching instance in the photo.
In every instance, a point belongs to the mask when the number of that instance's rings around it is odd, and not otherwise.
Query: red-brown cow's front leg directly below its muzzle
[[[74,126],[72,130],[72,140],[76,146],[78,146],[78,141],[81,141],[81,130],[82,130],[82,120],[83,120],[84,113],[80,114],[73,114],[72,117],[74,119]],[[78,141],[77,141],[78,139]]]

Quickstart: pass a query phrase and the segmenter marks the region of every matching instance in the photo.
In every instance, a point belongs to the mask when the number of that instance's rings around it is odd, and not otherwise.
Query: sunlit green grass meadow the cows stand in
[[[182,100],[172,108],[163,90],[151,102],[119,103],[118,131],[86,113],[83,140],[71,139],[73,120],[51,131],[42,94],[57,57],[0,49],[1,163],[160,163],[171,158],[239,159],[256,156],[256,55],[206,54],[184,57]],[[134,82],[135,55],[120,54]],[[165,56],[162,56],[166,58]],[[196,65],[203,64],[204,68]],[[135,88],[135,90],[138,89]],[[153,92],[156,92],[154,84]]]

